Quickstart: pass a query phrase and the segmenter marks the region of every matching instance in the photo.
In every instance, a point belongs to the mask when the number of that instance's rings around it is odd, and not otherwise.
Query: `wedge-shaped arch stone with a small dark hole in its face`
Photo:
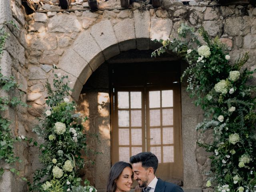
[[[100,46],[105,60],[120,53],[118,41],[110,20],[103,20],[92,26],[90,34]]]

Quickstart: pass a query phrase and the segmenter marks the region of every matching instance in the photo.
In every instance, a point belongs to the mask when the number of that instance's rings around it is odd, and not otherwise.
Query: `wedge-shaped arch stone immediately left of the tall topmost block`
[[[118,40],[120,51],[136,49],[134,19],[124,19],[115,24],[113,28]]]

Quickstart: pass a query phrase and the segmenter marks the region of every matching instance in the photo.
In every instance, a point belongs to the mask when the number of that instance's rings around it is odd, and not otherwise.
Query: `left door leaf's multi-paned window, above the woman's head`
[[[145,105],[142,91],[117,90],[113,161],[129,162],[130,156],[145,151]],[[118,136],[118,137],[116,137]]]

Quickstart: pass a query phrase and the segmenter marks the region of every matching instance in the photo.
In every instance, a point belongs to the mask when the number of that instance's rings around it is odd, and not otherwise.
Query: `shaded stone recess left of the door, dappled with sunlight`
[[[105,74],[102,74],[105,73]],[[86,161],[92,160],[95,164],[86,163],[81,170],[82,178],[90,180],[97,189],[106,188],[106,180],[111,165],[110,155],[110,97],[108,91],[108,70],[101,66],[84,85],[77,102],[77,111],[88,117],[84,128],[96,136],[88,137],[87,145],[95,152],[84,153]],[[104,80],[102,80],[102,76]],[[107,82],[107,83],[106,83]],[[97,138],[98,137],[98,140]]]

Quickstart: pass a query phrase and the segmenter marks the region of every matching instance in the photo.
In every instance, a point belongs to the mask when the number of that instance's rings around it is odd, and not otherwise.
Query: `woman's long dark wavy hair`
[[[118,179],[118,177],[120,176],[120,174],[123,172],[124,168],[126,168],[126,167],[130,167],[132,169],[132,166],[129,163],[120,161],[120,162],[115,163],[110,168],[106,192],[115,192],[116,191],[115,180]]]

